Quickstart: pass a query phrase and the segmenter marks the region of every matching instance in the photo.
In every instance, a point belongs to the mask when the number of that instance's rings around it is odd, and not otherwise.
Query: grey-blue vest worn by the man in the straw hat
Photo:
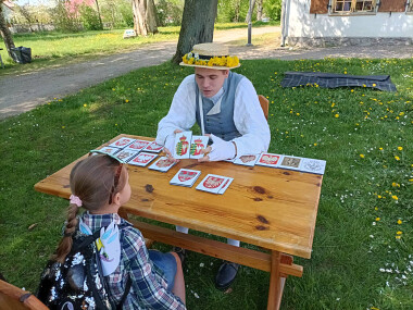
[[[241,136],[234,123],[234,103],[235,90],[237,89],[237,86],[242,77],[242,75],[229,71],[229,75],[225,78],[223,85],[224,94],[222,95],[221,112],[217,114],[206,115],[208,112],[214,107],[214,103],[211,99],[201,96],[205,134],[214,134],[226,141]],[[199,88],[197,82],[193,83],[196,84],[197,123],[201,127],[201,117],[199,113]]]

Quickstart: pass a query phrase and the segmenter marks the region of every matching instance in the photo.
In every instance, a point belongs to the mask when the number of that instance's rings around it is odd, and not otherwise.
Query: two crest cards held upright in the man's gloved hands
[[[202,158],[201,150],[208,147],[206,136],[192,136],[192,132],[183,132],[175,135],[173,156],[176,159]]]

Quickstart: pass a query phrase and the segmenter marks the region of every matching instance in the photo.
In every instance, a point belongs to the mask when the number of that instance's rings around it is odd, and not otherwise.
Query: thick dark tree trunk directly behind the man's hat
[[[178,46],[172,61],[179,63],[183,55],[198,44],[212,42],[217,0],[185,0]]]

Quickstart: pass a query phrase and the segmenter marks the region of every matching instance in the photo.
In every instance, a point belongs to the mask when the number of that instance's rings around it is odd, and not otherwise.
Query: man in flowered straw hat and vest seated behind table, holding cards
[[[175,134],[190,129],[196,122],[202,135],[210,135],[212,140],[199,162],[266,152],[271,134],[256,91],[247,77],[230,71],[240,66],[238,58],[230,57],[225,46],[200,44],[183,57],[180,65],[193,66],[195,74],[180,83],[167,115],[158,125],[157,142],[164,146],[167,156],[173,158]],[[176,230],[188,233],[186,227]],[[227,241],[239,247],[238,240]],[[185,258],[184,249],[175,250]],[[224,261],[215,277],[216,287],[229,287],[238,268]]]

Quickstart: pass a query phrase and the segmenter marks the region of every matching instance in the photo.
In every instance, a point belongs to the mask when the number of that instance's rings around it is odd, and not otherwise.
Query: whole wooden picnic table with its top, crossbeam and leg
[[[101,147],[121,137],[153,140],[122,134]],[[75,162],[37,183],[36,190],[68,199],[68,175]],[[170,185],[182,168],[202,172],[191,188]],[[271,272],[267,309],[279,309],[286,277],[302,276],[303,269],[292,263],[292,257],[311,257],[322,175],[197,160],[180,160],[166,173],[135,165],[128,165],[128,171],[132,197],[120,209],[121,216],[133,222],[146,238]],[[230,176],[234,182],[224,195],[197,190],[208,173]],[[128,214],[241,240],[268,251],[178,233],[132,220]]]

